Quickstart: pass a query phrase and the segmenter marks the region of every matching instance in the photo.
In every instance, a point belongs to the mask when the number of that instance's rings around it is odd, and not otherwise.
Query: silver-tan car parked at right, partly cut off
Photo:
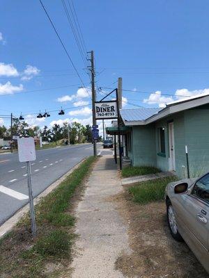
[[[185,240],[209,273],[209,173],[169,183],[165,199],[171,235]]]

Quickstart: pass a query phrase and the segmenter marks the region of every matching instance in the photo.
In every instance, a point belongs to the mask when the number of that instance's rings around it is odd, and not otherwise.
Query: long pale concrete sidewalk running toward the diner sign
[[[72,278],[124,277],[114,265],[118,256],[130,254],[127,226],[118,211],[120,202],[114,202],[114,195],[121,192],[114,158],[100,157],[76,210],[79,238]]]

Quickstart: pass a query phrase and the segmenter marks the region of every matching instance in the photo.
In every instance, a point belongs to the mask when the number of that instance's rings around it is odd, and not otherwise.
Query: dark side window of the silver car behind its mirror
[[[209,201],[209,174],[196,181],[192,195]]]

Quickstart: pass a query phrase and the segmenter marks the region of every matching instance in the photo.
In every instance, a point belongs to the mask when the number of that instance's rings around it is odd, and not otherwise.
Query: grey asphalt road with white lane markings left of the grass
[[[31,162],[33,196],[39,195],[84,157],[92,154],[92,144],[36,151],[36,161]],[[1,154],[0,225],[28,202],[24,195],[28,196],[26,163],[19,162],[18,154]]]

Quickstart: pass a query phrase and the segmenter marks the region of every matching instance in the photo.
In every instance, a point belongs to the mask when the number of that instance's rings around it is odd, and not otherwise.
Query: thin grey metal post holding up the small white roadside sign
[[[26,171],[27,171],[27,183],[28,183],[28,190],[29,190],[29,205],[30,205],[30,213],[31,213],[31,231],[32,236],[37,236],[37,229],[36,229],[36,218],[35,218],[35,211],[34,211],[34,204],[33,204],[33,191],[31,186],[31,161],[26,161]]]

